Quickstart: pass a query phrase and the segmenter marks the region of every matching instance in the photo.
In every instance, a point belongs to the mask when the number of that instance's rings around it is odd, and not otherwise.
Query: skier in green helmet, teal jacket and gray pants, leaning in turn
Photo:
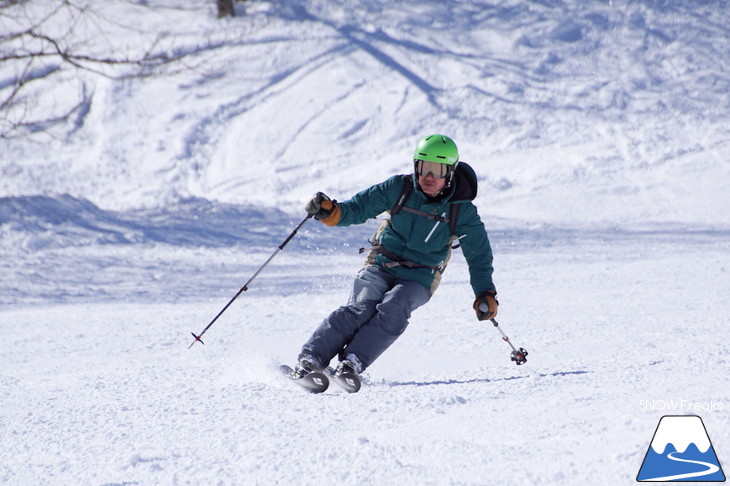
[[[420,140],[413,164],[412,175],[393,176],[348,201],[318,192],[307,203],[307,212],[328,226],[361,224],[384,211],[391,217],[371,241],[347,304],[324,319],[302,347],[295,375],[321,371],[335,356],[340,359],[335,376],[362,373],[405,331],[411,312],[429,301],[457,240],[469,266],[477,318],[497,315],[492,250],[471,202],[476,174],[444,135]]]

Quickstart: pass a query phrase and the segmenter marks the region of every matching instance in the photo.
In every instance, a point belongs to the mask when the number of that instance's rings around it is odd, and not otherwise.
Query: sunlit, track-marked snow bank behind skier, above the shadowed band
[[[294,212],[401,172],[414,140],[442,131],[494,216],[730,224],[726,2],[259,1],[229,21],[172,3],[187,8],[114,8],[209,45],[205,63],[153,81],[82,73],[95,86],[82,126],[3,141],[0,194]]]

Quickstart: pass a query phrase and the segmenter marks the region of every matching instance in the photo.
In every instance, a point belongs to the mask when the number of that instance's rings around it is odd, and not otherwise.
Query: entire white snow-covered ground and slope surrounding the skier
[[[82,82],[82,116],[0,139],[0,483],[630,484],[665,414],[730,463],[726,1],[209,3],[92,3],[95,52],[209,49],[72,72],[37,109]],[[308,222],[187,349],[307,197],[407,172],[434,132],[479,174],[527,364],[457,251],[360,393],[279,380],[375,221]]]

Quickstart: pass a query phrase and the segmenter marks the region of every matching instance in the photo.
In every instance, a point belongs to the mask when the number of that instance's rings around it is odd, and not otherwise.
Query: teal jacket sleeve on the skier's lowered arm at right
[[[456,234],[461,237],[461,249],[464,253],[474,295],[490,290],[497,292],[492,282],[492,247],[477,208],[472,203],[463,203],[459,208]]]

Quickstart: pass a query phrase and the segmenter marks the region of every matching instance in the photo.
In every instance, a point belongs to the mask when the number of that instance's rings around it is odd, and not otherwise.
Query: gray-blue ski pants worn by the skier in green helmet
[[[431,298],[426,288],[396,278],[385,270],[365,267],[355,278],[347,305],[332,312],[302,347],[302,355],[327,366],[332,358],[354,354],[363,370],[403,334],[408,319]]]

